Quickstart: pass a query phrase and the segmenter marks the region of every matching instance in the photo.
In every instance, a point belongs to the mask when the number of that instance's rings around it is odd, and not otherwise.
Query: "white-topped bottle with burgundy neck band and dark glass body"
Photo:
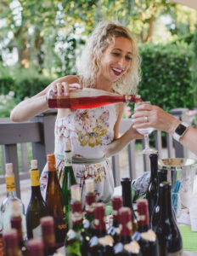
[[[90,236],[93,236],[93,211],[96,202],[96,195],[94,193],[94,181],[91,178],[85,180],[86,188],[86,205],[85,205],[85,218],[83,220],[83,228]]]

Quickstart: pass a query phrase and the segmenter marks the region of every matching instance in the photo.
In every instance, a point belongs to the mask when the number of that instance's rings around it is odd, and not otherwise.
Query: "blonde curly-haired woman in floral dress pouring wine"
[[[69,94],[69,88],[91,87],[116,93],[135,92],[140,79],[138,48],[131,33],[119,23],[104,21],[98,24],[82,53],[76,76],[66,76],[49,84],[36,96],[20,102],[10,118],[13,121],[31,119],[48,110],[46,92],[52,87],[59,95]],[[114,182],[110,164],[105,157],[118,153],[134,138],[142,136],[132,127],[118,137],[124,104],[92,109],[59,109],[55,123],[55,154],[59,174],[64,167],[64,142],[70,139],[73,157],[80,157],[82,164],[73,162],[76,182],[81,185],[84,201],[84,183],[87,177],[95,182],[98,201],[110,201]],[[89,163],[93,160],[93,164]],[[46,188],[47,166],[41,185]]]

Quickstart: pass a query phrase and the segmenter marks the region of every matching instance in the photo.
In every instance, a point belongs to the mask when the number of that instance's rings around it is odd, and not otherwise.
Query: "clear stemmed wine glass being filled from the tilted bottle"
[[[138,107],[142,104],[151,104],[150,102],[137,102],[135,103],[134,111],[138,109]],[[145,117],[144,117],[145,118]],[[154,149],[149,148],[149,134],[154,131],[155,129],[153,127],[147,127],[147,128],[138,128],[136,129],[139,133],[144,135],[144,142],[145,142],[145,148],[142,151],[142,154],[154,154],[157,151]]]

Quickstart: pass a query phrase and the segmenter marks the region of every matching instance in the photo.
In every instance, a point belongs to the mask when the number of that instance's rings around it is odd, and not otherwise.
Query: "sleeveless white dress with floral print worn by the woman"
[[[76,109],[55,123],[55,154],[64,155],[64,143],[70,139],[73,157],[99,159],[104,157],[104,147],[114,138],[114,125],[117,119],[115,105],[100,108]],[[56,159],[60,183],[64,161]],[[41,176],[42,195],[46,192],[48,182],[47,165]],[[114,190],[114,179],[107,159],[97,164],[73,164],[76,182],[82,190],[82,201],[85,200],[85,179],[94,179],[97,201],[110,201]]]

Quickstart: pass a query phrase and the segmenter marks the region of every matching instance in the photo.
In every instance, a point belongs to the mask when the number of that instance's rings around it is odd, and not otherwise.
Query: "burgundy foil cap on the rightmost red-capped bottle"
[[[147,199],[138,199],[138,224],[148,225],[149,224],[149,207]]]

